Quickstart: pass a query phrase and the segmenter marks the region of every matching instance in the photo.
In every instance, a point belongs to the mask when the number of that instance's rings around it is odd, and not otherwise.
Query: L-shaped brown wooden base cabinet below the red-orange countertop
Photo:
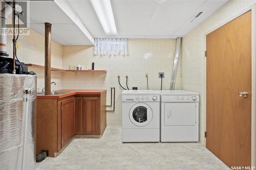
[[[81,92],[82,93],[82,92]],[[75,135],[102,136],[106,128],[106,92],[37,99],[36,152],[55,157]]]

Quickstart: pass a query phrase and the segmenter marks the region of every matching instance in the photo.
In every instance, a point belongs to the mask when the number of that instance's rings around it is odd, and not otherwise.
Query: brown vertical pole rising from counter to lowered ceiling
[[[45,23],[45,95],[51,94],[51,23]]]

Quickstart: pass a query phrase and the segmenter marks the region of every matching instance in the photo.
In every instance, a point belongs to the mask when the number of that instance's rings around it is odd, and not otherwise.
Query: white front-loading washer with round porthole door
[[[159,142],[159,140],[159,91],[123,90],[122,142]]]

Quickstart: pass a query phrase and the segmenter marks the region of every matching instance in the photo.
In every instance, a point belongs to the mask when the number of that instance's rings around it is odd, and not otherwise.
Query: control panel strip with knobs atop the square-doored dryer
[[[199,102],[198,95],[162,95],[162,102]]]

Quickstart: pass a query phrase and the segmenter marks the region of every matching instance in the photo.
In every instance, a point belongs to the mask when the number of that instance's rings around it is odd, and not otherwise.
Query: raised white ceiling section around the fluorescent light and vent
[[[105,35],[89,0],[67,0],[94,38],[184,36],[228,0],[111,0],[118,34]],[[203,11],[194,22],[189,21]]]

